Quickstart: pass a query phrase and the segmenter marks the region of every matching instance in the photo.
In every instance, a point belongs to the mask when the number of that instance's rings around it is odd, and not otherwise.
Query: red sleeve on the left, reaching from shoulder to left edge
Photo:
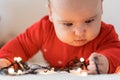
[[[42,43],[42,31],[48,17],[30,26],[24,33],[9,41],[0,50],[0,58],[7,58],[13,62],[14,57],[21,57],[27,61],[40,49]]]

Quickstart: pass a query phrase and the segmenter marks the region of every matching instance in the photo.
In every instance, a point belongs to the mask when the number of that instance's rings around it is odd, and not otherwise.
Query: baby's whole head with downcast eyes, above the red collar
[[[50,17],[57,37],[71,46],[83,46],[100,33],[101,0],[51,0]]]

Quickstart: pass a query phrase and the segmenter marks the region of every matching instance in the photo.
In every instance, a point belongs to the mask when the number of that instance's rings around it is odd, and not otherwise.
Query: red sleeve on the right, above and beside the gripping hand
[[[120,41],[113,26],[112,25],[108,26],[110,28],[104,30],[108,33],[104,34],[105,32],[102,32],[103,35],[101,35],[102,40],[100,42],[101,44],[99,45],[100,47],[98,48],[98,52],[102,53],[108,58],[109,61],[108,73],[114,73],[116,68],[120,65]]]

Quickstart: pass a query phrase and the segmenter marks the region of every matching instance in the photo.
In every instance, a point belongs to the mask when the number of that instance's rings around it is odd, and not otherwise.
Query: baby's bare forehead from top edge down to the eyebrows
[[[78,17],[81,16],[84,16],[84,18],[87,19],[89,17],[95,16],[101,11],[100,9],[101,7],[98,6],[98,0],[50,0],[50,1],[52,5],[52,13],[58,16],[62,16],[65,19],[71,19],[71,17],[78,19]]]

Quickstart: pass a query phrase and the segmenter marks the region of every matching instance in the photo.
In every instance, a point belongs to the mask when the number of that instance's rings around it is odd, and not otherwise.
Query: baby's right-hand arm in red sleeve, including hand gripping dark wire
[[[112,25],[104,24],[101,29],[101,34],[96,39],[95,44],[96,50],[94,52],[97,54],[93,53],[90,55],[90,64],[88,66],[88,69],[90,72],[96,70],[96,65],[93,63],[93,60],[94,56],[98,56],[97,63],[100,72],[114,73],[116,68],[120,66],[120,40],[118,39],[118,35],[115,32],[114,27]]]

